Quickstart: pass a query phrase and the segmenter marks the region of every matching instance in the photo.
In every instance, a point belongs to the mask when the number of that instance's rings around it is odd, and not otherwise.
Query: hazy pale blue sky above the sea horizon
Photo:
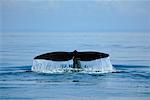
[[[1,32],[150,32],[150,0],[1,0]]]

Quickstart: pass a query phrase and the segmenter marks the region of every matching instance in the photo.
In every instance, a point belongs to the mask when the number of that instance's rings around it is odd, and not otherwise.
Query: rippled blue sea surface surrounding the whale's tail
[[[0,100],[149,100],[150,33],[1,33]],[[110,54],[109,73],[32,72],[51,51]]]

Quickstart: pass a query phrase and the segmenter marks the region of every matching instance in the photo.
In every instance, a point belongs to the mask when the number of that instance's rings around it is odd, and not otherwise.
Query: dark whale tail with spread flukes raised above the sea
[[[50,60],[56,62],[73,60],[72,68],[81,68],[81,61],[93,61],[96,59],[102,59],[109,57],[109,54],[95,51],[85,51],[78,52],[74,50],[73,52],[50,52],[36,56],[34,59],[38,60]]]

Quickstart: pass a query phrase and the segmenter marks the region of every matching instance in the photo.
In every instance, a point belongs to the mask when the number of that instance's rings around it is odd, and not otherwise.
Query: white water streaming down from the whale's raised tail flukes
[[[102,58],[93,61],[80,61],[81,69],[74,69],[73,60],[69,61],[51,61],[44,59],[34,59],[32,65],[32,71],[42,73],[63,73],[78,71],[80,73],[108,73],[113,72],[113,68],[110,58]]]

